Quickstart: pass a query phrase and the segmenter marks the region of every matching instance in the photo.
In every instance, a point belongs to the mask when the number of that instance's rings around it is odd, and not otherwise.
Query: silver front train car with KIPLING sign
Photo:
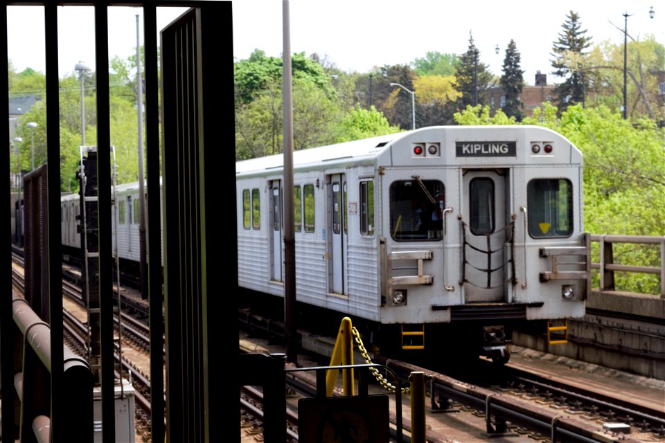
[[[504,363],[513,328],[585,314],[583,157],[560,134],[426,127],[293,164],[299,325],[349,316],[375,349]],[[283,155],[236,163],[238,283],[277,297],[283,187]]]

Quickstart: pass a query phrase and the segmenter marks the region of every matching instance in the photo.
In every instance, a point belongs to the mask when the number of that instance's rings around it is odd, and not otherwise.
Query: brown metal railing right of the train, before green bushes
[[[592,243],[600,245],[600,262],[591,264],[600,271],[601,291],[617,290],[614,272],[648,273],[660,277],[660,296],[665,298],[665,235],[592,235]],[[635,266],[614,262],[614,244],[660,245],[660,266]]]

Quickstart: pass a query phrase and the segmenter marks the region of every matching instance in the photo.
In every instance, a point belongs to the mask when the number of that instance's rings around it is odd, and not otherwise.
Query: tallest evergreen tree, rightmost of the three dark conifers
[[[585,78],[583,60],[585,49],[591,45],[592,37],[587,37],[587,30],[581,30],[580,16],[573,11],[566,16],[562,32],[552,47],[551,60],[553,75],[565,78],[565,82],[557,85],[554,93],[559,102],[559,110],[564,111],[569,105],[584,105],[587,79]]]

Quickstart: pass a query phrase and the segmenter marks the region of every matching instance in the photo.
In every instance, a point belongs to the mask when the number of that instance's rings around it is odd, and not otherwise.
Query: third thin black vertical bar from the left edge
[[[107,4],[96,3],[95,62],[97,74],[97,210],[99,220],[99,316],[101,342],[100,380],[102,385],[102,439],[104,443],[111,443],[116,440],[114,398],[115,361],[113,355],[113,247],[111,233],[111,134],[109,120],[108,28]]]

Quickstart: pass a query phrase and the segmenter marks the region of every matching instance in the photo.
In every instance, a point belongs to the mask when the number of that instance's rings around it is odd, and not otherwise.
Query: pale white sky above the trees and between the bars
[[[644,39],[653,34],[665,43],[665,3],[653,4],[655,18],[650,19],[651,1],[290,0],[287,4],[292,52],[319,53],[342,71],[362,73],[373,66],[409,64],[428,51],[459,55],[467,50],[472,31],[481,51],[479,60],[496,75],[501,74],[506,46],[514,39],[526,71],[524,80],[533,84],[536,71],[550,74],[552,44],[570,10],[578,12],[592,43],[622,44],[624,12],[630,14],[628,35]],[[236,60],[247,58],[256,48],[281,56],[284,1],[232,3]],[[159,8],[158,26],[166,26],[182,11]],[[110,55],[125,58],[135,53],[137,12],[141,10],[109,8]],[[80,60],[94,68],[93,8],[64,7],[59,14],[60,76],[73,73]],[[43,28],[41,7],[8,8],[9,57],[19,71],[29,66],[45,72]],[[142,23],[140,29],[143,33]],[[548,82],[554,81],[548,75]]]

